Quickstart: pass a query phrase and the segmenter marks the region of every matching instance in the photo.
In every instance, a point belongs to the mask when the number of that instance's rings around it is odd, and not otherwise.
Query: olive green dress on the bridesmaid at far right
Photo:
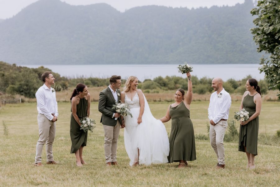
[[[250,112],[249,117],[256,112],[256,104],[254,103],[254,96],[249,93],[243,99],[243,108]],[[239,131],[239,148],[238,151],[258,155],[258,133],[259,133],[259,116],[248,122],[246,125],[240,125]]]

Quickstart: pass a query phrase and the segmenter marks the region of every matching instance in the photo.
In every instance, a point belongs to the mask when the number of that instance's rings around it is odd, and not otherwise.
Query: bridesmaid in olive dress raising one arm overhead
[[[187,77],[191,76],[187,73]],[[169,137],[169,156],[168,162],[179,162],[178,167],[188,165],[187,161],[196,160],[194,127],[189,118],[189,108],[192,101],[192,81],[188,81],[188,91],[186,96],[183,89],[178,89],[175,93],[175,103],[168,106],[166,116],[160,120],[162,122],[171,122],[171,132]]]

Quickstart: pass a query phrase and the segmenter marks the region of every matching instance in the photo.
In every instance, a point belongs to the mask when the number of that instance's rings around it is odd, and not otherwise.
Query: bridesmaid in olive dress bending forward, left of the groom
[[[79,118],[89,117],[91,95],[85,84],[78,84],[74,89],[71,100],[70,137],[72,141],[71,152],[75,153],[77,166],[86,164],[83,160],[83,147],[86,146],[87,132],[80,130]]]

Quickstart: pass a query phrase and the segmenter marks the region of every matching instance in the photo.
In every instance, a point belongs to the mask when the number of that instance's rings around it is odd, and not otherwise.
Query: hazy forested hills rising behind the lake
[[[0,61],[21,64],[258,63],[251,0],[234,7],[71,6],[40,0],[0,22]]]

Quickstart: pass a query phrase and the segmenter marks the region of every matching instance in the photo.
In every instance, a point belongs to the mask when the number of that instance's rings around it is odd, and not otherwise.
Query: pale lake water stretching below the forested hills
[[[144,79],[154,79],[158,76],[181,76],[178,73],[178,65],[22,65],[29,68],[37,68],[44,66],[51,69],[53,72],[66,76],[69,78],[74,77],[98,77],[108,78],[111,75],[121,75],[126,79],[130,75],[138,77],[140,81]],[[214,78],[221,77],[223,80],[236,79],[240,80],[251,75],[253,78],[259,80],[264,79],[264,73],[259,73],[259,64],[222,64],[210,65],[200,64],[192,65],[192,75],[196,75],[199,79],[202,77]]]

